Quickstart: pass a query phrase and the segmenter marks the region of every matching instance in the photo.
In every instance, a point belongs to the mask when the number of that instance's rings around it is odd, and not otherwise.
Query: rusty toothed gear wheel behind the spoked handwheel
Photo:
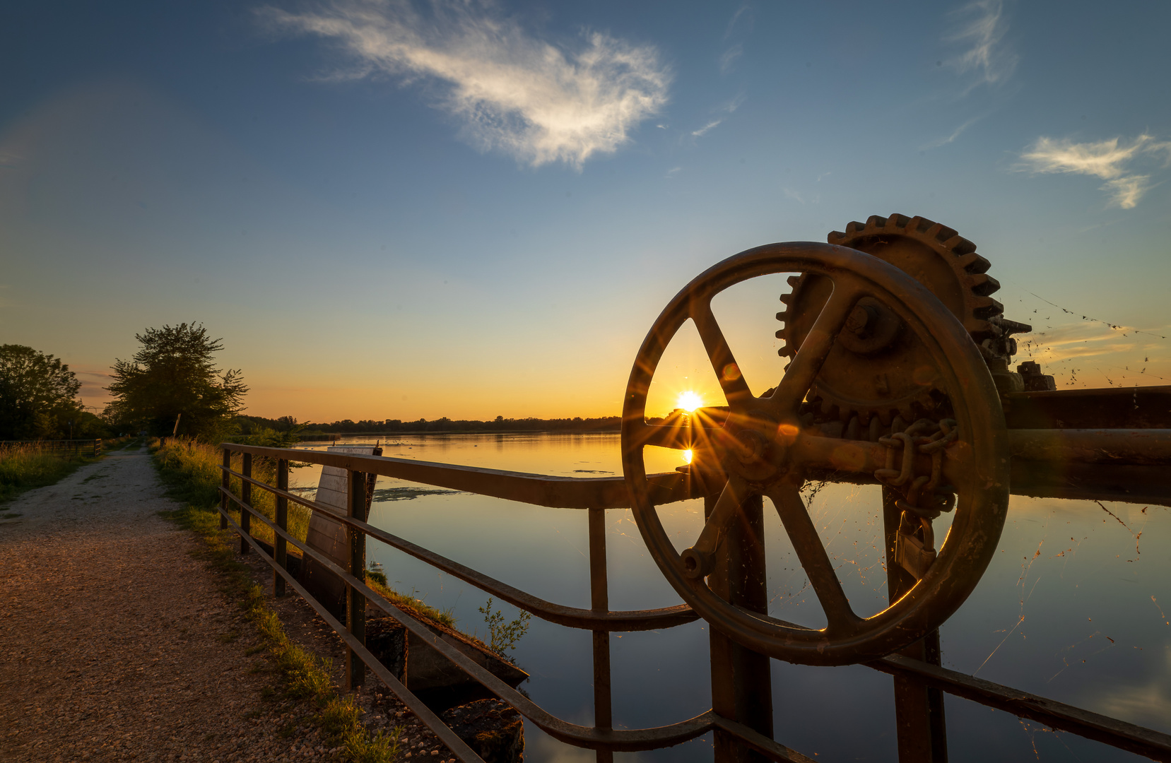
[[[1011,335],[1029,326],[1004,318],[1004,305],[989,296],[1000,283],[987,274],[989,263],[974,243],[944,225],[902,214],[851,222],[845,233],[835,231],[827,240],[884,260],[930,289],[980,348],[998,389],[1019,389],[1020,378],[1014,380],[1008,372],[1016,351]],[[793,291],[781,296],[786,309],[776,314],[785,328],[776,336],[785,339],[780,355],[792,358],[828,300],[831,283],[804,274],[792,276],[789,286]],[[843,424],[855,415],[863,425],[872,417],[884,425],[895,417],[939,418],[946,398],[938,378],[922,342],[903,330],[898,316],[881,302],[863,298],[809,391],[806,410],[819,420]]]

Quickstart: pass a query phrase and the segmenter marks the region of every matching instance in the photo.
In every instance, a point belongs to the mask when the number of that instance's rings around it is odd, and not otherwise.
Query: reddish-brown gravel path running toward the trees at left
[[[0,759],[275,759],[239,607],[157,516],[144,451],[26,493],[0,522]],[[11,514],[9,514],[11,516]],[[251,713],[249,713],[251,712]],[[252,717],[248,717],[252,715]],[[271,724],[269,724],[271,726]],[[301,757],[301,756],[299,756]]]

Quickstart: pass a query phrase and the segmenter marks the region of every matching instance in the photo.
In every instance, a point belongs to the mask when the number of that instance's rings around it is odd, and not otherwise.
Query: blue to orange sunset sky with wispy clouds
[[[1153,1],[26,4],[0,343],[94,406],[136,332],[201,322],[255,415],[615,415],[694,275],[897,212],[975,241],[1059,386],[1167,384],[1169,26]],[[714,305],[758,393],[785,290]],[[723,403],[687,339],[651,413]]]

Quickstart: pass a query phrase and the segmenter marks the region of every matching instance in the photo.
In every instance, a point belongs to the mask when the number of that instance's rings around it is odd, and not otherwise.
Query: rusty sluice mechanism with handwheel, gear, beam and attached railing
[[[689,283],[652,325],[624,394],[622,477],[561,477],[423,461],[224,444],[221,523],[274,569],[276,594],[296,590],[347,644],[350,688],[372,671],[466,763],[481,761],[365,647],[368,603],[461,669],[532,723],[568,744],[649,750],[714,733],[718,763],[813,758],[773,738],[769,660],[865,665],[893,678],[900,763],[947,759],[944,695],[1029,719],[1156,761],[1171,761],[1171,735],[986,681],[939,665],[939,625],[975,587],[997,550],[1009,495],[1171,506],[1171,386],[1056,390],[1035,363],[1012,371],[1013,335],[988,295],[988,262],[954,231],[923,218],[870,218],[833,233],[830,243],[776,243],[740,253]],[[789,365],[754,393],[711,309],[712,297],[761,275],[796,274],[781,355]],[[726,406],[646,422],[646,394],[676,332],[691,321],[703,339]],[[648,446],[690,449],[689,467],[646,474]],[[233,455],[239,454],[234,461]],[[274,484],[252,475],[253,460],[276,463]],[[347,475],[344,515],[288,490],[289,461]],[[239,467],[235,463],[239,462]],[[370,475],[477,493],[534,506],[581,509],[589,535],[590,609],[546,602],[420,548],[367,516]],[[231,489],[239,481],[238,492]],[[842,591],[802,502],[810,481],[882,486],[890,605],[862,617]],[[252,506],[253,488],[276,497],[275,520]],[[765,501],[775,508],[826,614],[822,628],[767,612]],[[703,499],[705,524],[679,552],[656,507]],[[330,558],[287,531],[288,502],[333,514],[348,558]],[[228,507],[240,510],[237,523]],[[631,508],[664,577],[684,604],[611,611],[605,511]],[[933,521],[953,513],[937,543]],[[272,555],[251,522],[275,534]],[[546,712],[445,642],[365,584],[365,542],[375,538],[550,623],[593,633],[594,723]],[[288,572],[293,544],[345,586],[334,617]],[[710,625],[712,707],[692,719],[644,729],[614,728],[610,633]],[[827,729],[829,727],[827,726]],[[820,758],[819,758],[820,759]]]

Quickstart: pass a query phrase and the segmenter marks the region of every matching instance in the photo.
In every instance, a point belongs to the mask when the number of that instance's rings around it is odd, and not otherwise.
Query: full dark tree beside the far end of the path
[[[212,357],[224,349],[203,324],[146,329],[135,338],[142,349],[132,360],[115,360],[114,396],[107,418],[153,434],[179,433],[214,440],[244,410],[248,387],[239,369],[221,371]],[[180,419],[182,417],[182,419]]]

